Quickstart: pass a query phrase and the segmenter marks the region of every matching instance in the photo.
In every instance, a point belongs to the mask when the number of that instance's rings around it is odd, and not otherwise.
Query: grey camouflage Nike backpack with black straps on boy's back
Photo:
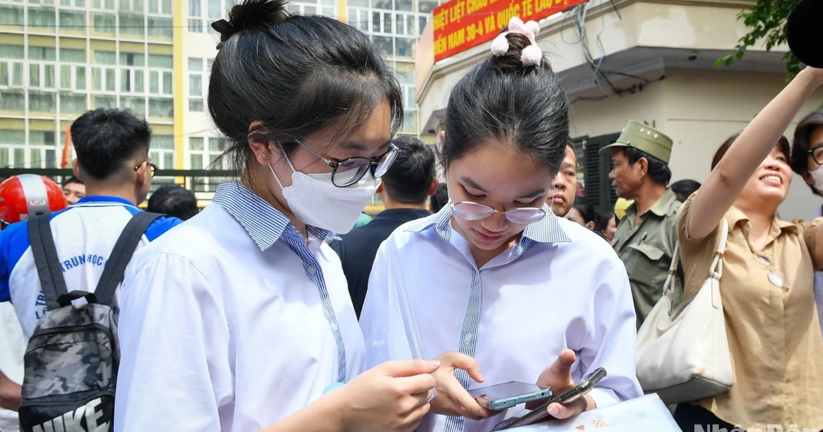
[[[21,432],[114,430],[114,387],[120,349],[111,302],[148,225],[160,215],[141,212],[128,221],[105,263],[94,293],[67,291],[49,216],[29,219],[31,252],[48,312],[26,348]],[[72,300],[86,299],[76,307]]]

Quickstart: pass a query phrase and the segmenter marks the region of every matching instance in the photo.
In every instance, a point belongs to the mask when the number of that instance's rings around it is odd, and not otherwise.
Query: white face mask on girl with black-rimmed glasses
[[[346,188],[338,188],[332,183],[332,173],[301,173],[295,170],[295,165],[291,164],[288,156],[285,157],[294,171],[291,174],[291,186],[284,188],[271,164],[268,168],[272,170],[274,179],[283,189],[283,197],[286,198],[289,208],[306,225],[329,230],[334,234],[346,234],[351,231],[357,217],[380,186],[380,179],[375,179],[369,171],[357,183]]]

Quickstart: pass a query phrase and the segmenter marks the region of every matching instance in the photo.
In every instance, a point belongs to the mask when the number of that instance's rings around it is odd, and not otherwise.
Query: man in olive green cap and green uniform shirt
[[[672,139],[632,121],[617,142],[603,147],[600,154],[611,154],[614,168],[609,179],[617,196],[634,200],[617,225],[611,245],[629,274],[639,328],[663,295],[663,283],[677,245],[676,216],[681,202],[667,188],[672,179],[668,168]],[[676,288],[682,281],[678,267]]]

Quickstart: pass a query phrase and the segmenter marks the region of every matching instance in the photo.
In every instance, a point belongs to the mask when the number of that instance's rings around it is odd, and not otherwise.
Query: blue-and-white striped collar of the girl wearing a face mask
[[[242,184],[222,183],[217,187],[212,202],[226,209],[261,251],[271,248],[283,235],[286,239],[305,241],[289,218]],[[310,236],[317,239],[326,239],[332,234],[311,225],[306,225],[306,229]]]

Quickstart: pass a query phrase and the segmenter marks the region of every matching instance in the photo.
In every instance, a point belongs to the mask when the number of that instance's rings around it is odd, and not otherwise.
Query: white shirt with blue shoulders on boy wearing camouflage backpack
[[[50,215],[54,246],[69,292],[94,292],[123,228],[141,211],[121,197],[90,195]],[[137,250],[181,222],[176,217],[160,216],[146,228]],[[119,288],[115,290],[112,299],[115,313],[119,311],[119,292]],[[0,232],[0,302],[10,300],[28,343],[46,313],[46,299],[31,253],[27,221],[8,225]]]

